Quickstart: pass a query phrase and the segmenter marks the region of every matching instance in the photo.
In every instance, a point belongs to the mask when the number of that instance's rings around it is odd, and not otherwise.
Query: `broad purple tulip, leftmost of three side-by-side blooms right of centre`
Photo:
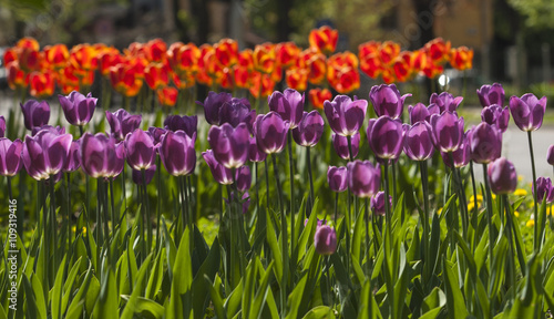
[[[381,160],[396,160],[402,153],[404,132],[402,123],[389,116],[368,122],[369,147]]]

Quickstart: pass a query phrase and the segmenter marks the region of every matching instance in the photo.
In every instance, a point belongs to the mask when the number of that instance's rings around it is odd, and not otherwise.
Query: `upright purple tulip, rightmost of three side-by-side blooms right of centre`
[[[463,140],[463,117],[453,112],[431,115],[434,146],[443,153],[454,152]]]

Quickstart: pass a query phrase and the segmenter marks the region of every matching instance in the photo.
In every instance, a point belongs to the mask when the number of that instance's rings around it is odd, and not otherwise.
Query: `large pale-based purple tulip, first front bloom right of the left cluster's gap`
[[[238,168],[246,163],[249,137],[250,133],[245,123],[240,123],[236,128],[224,123],[222,126],[212,126],[208,132],[208,143],[215,158],[227,168]]]

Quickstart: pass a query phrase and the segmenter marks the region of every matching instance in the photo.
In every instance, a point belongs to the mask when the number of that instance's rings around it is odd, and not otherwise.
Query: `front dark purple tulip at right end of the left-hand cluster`
[[[184,131],[167,132],[160,143],[158,153],[165,169],[173,176],[188,175],[196,166],[196,152],[194,151],[193,137]]]

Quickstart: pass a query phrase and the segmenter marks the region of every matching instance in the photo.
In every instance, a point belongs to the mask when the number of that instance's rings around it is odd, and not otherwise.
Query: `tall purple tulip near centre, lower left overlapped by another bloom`
[[[293,89],[287,89],[283,93],[275,91],[267,97],[267,103],[269,110],[277,112],[284,121],[290,123],[291,130],[302,121],[304,93],[300,94]]]

